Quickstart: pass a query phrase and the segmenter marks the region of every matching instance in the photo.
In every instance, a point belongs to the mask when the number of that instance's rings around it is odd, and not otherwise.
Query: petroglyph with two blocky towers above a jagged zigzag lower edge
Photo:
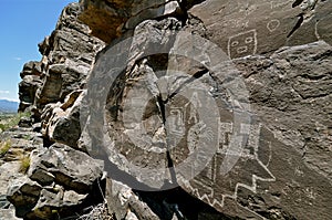
[[[226,157],[226,149],[229,147],[231,139],[236,134],[234,134],[234,124],[232,123],[220,123],[219,125],[219,144],[220,148],[217,151],[217,155],[210,161],[203,172],[205,178],[195,178],[190,181],[184,182],[185,187],[191,191],[193,195],[199,199],[208,202],[215,208],[224,208],[226,205],[226,199],[231,199],[237,202],[238,191],[240,188],[246,188],[253,193],[257,193],[257,181],[276,181],[276,177],[269,170],[268,165],[271,159],[271,155],[268,156],[269,160],[267,163],[261,161],[259,156],[260,147],[270,147],[270,146],[260,146],[260,130],[261,125],[249,125],[241,124],[240,133],[241,135],[248,136],[248,143],[245,149],[241,153],[241,158],[237,165],[229,171],[229,174],[220,175],[222,159]],[[269,154],[271,154],[269,151]],[[259,171],[257,171],[259,170]],[[249,177],[248,177],[249,175]],[[232,178],[236,176],[237,178]],[[237,179],[239,180],[238,182]],[[248,181],[249,179],[249,181]],[[214,186],[219,186],[218,188]],[[222,187],[225,186],[225,187]],[[238,206],[241,206],[238,203]],[[242,206],[241,206],[242,207]],[[252,212],[246,207],[243,209]],[[257,213],[256,213],[257,214]],[[260,217],[263,219],[263,217]]]

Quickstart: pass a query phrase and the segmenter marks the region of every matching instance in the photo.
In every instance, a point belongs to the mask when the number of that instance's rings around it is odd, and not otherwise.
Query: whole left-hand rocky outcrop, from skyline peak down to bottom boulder
[[[9,148],[0,158],[0,219],[17,219],[14,212],[23,219],[75,219],[103,201],[103,166],[76,142],[81,88],[104,42],[90,34],[79,12],[77,3],[63,10],[55,30],[39,44],[42,60],[27,63],[20,74],[19,111],[32,115],[1,134]]]

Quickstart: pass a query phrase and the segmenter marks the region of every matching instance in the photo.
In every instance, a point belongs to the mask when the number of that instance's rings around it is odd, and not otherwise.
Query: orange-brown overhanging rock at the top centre
[[[183,14],[180,2],[174,0],[83,0],[81,6],[83,12],[80,19],[92,29],[93,35],[107,43],[135,29],[146,19]]]

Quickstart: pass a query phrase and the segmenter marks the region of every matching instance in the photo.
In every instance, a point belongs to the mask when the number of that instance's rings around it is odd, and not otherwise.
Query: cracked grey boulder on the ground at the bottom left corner
[[[102,176],[100,161],[54,144],[31,153],[28,176],[10,184],[7,198],[20,218],[73,218],[80,210],[101,201]]]

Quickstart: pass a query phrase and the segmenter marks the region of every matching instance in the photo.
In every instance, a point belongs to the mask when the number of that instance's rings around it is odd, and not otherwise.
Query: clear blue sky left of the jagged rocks
[[[41,60],[38,43],[70,2],[77,0],[0,0],[0,98],[19,99],[23,64]]]

